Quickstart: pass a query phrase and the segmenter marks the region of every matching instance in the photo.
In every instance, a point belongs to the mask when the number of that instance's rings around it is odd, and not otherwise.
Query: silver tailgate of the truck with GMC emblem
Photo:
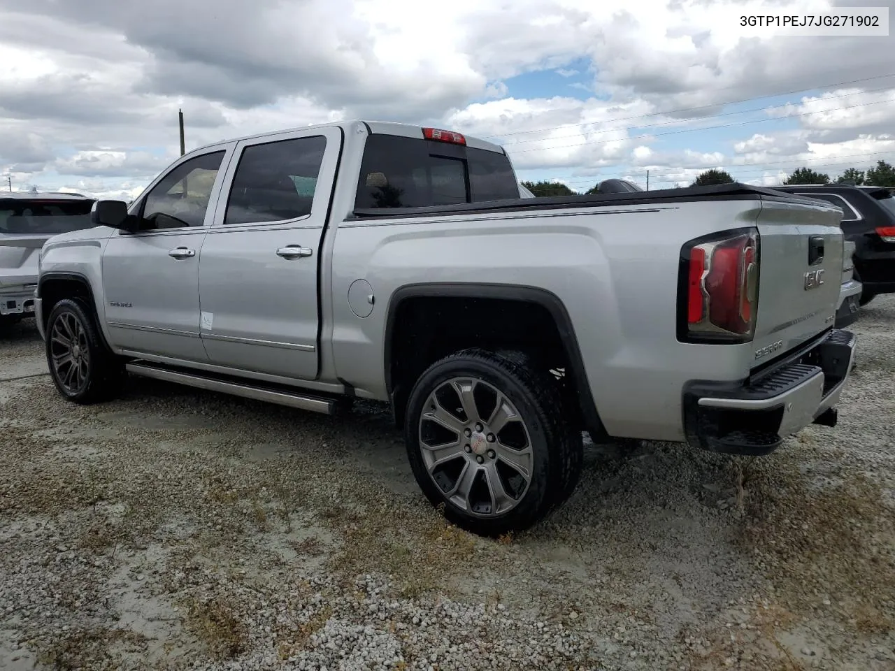
[[[763,199],[752,368],[833,324],[842,276],[840,209],[817,200]]]

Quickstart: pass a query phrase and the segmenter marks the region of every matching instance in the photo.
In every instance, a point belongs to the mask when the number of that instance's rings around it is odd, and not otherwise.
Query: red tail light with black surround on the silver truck
[[[678,340],[745,343],[758,309],[758,231],[688,242],[681,254]]]

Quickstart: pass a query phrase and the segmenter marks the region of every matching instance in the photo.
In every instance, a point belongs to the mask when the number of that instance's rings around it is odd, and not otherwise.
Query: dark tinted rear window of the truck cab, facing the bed
[[[519,198],[506,155],[434,140],[373,134],[354,208],[424,208]]]

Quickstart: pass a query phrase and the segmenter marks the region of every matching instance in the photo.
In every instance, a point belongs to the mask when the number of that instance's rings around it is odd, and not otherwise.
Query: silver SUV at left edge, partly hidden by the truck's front
[[[65,193],[0,192],[0,327],[33,314],[40,248],[55,234],[90,228],[93,202]]]

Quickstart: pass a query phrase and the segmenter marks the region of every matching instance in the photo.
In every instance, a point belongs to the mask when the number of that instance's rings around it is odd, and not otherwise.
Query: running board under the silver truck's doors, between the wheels
[[[125,364],[124,368],[132,375],[138,375],[142,378],[154,378],[166,382],[175,382],[180,385],[194,386],[199,389],[208,389],[209,391],[243,396],[243,398],[251,398],[255,401],[267,401],[268,403],[288,405],[291,408],[298,408],[300,410],[321,412],[326,415],[335,414],[337,410],[337,402],[335,400],[319,396],[297,394],[282,386],[274,388],[272,386],[253,385],[243,381],[236,382],[230,379],[218,379],[209,375],[200,375],[183,370],[169,369],[164,366],[149,363],[148,361],[128,363]]]

